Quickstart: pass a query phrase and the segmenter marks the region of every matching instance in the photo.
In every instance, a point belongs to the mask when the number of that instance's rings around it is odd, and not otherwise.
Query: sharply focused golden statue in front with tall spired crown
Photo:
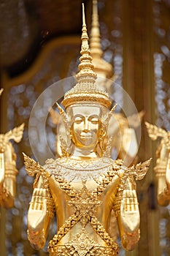
[[[50,221],[57,217],[57,234],[49,242],[50,256],[114,256],[119,247],[109,236],[112,209],[122,245],[133,250],[139,241],[139,206],[136,179],[142,179],[150,160],[133,167],[107,157],[107,125],[113,110],[107,92],[96,85],[88,45],[84,6],[82,48],[77,84],[58,109],[68,140],[62,140],[62,157],[47,159],[42,167],[24,154],[34,192],[28,208],[28,240],[36,249],[45,246]]]

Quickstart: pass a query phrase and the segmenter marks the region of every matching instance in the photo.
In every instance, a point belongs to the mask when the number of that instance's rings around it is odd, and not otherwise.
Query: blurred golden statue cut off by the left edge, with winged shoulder
[[[0,134],[0,205],[4,208],[14,206],[15,182],[18,174],[16,154],[9,140],[19,143],[23,137],[23,128],[24,124],[21,124],[20,127]]]

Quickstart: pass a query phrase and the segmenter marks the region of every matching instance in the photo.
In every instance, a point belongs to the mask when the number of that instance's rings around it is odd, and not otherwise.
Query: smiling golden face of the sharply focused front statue
[[[78,148],[94,150],[101,133],[101,109],[98,106],[72,107],[72,141]]]

